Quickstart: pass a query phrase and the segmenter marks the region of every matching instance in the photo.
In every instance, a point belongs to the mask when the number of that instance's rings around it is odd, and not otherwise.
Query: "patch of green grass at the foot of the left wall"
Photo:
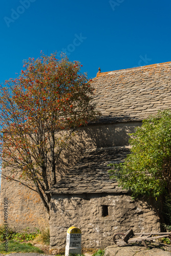
[[[4,242],[0,244],[1,253],[10,253],[10,252],[38,252],[44,253],[39,248],[33,246],[31,243],[19,243],[14,240],[8,241],[8,252],[5,251]]]

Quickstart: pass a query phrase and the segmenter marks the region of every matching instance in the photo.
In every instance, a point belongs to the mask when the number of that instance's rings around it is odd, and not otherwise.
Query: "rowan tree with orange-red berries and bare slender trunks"
[[[18,78],[2,84],[0,123],[1,160],[8,175],[36,191],[49,213],[61,152],[79,126],[97,118],[93,88],[78,61],[55,54],[24,61]]]

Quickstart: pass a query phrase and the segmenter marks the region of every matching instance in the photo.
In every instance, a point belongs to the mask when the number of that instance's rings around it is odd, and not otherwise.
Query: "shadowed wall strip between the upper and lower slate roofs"
[[[141,121],[109,124],[90,124],[81,127],[63,150],[58,161],[58,180],[65,175],[81,158],[85,150],[98,147],[129,145],[130,133],[141,126]]]

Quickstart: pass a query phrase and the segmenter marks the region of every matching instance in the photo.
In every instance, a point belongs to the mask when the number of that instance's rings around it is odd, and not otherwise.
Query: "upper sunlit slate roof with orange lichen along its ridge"
[[[100,122],[143,120],[171,105],[171,62],[97,73],[92,79]]]

